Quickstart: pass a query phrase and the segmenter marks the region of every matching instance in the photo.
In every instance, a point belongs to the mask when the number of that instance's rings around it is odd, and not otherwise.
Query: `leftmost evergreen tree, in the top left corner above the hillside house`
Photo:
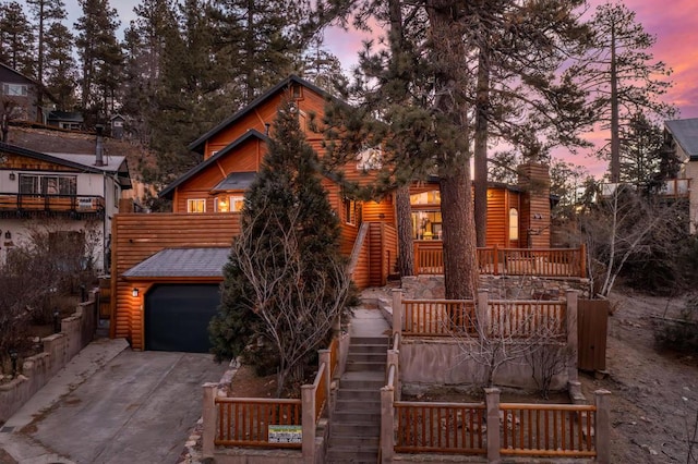
[[[0,61],[27,75],[34,75],[32,25],[16,1],[0,4]]]

